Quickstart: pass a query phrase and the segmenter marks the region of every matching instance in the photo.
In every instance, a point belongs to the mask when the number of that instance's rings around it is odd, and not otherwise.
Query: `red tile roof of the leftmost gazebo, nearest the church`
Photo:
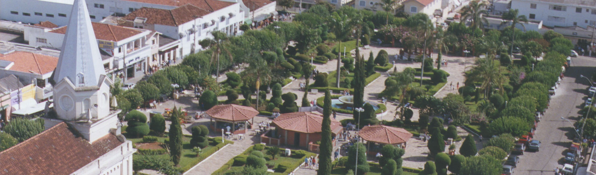
[[[232,122],[246,121],[252,119],[254,116],[259,114],[257,110],[252,107],[240,106],[236,104],[220,104],[213,106],[205,113],[215,119],[228,120]]]

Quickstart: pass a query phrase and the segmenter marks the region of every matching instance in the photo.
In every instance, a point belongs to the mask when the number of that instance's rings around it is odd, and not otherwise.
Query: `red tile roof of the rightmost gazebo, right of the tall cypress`
[[[412,133],[403,128],[384,125],[364,126],[358,135],[365,141],[380,144],[401,144],[412,137]]]

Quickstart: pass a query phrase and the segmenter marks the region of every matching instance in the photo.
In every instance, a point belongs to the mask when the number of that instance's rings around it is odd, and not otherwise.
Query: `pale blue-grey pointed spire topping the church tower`
[[[92,86],[98,84],[102,74],[105,75],[105,70],[86,2],[75,0],[54,71],[54,82],[67,77],[76,87]]]

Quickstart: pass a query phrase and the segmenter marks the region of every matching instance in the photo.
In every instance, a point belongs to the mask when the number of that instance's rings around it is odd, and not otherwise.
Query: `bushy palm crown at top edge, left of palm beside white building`
[[[488,14],[486,11],[486,1],[472,1],[469,5],[462,8],[461,16],[463,21],[472,20],[471,28],[484,28],[483,24],[488,24],[488,20],[483,17],[483,14]]]

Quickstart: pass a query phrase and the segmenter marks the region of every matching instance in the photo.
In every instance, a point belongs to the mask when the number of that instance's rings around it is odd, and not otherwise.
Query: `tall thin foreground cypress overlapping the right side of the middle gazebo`
[[[325,100],[323,107],[323,122],[321,123],[321,145],[319,147],[319,170],[317,175],[331,174],[331,94],[325,90]]]

